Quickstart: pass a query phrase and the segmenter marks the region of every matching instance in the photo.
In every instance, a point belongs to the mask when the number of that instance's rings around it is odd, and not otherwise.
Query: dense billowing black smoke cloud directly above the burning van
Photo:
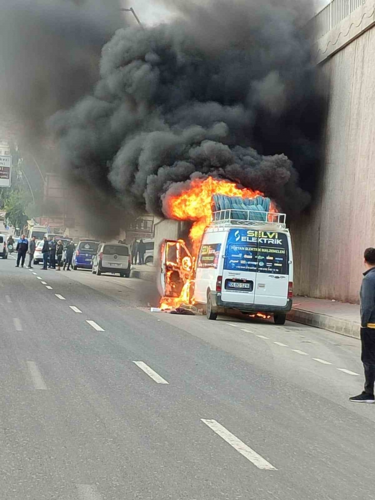
[[[304,29],[310,3],[185,4],[170,23],[118,30],[92,94],[51,119],[70,176],[94,197],[159,215],[166,193],[208,174],[301,211],[325,109]]]

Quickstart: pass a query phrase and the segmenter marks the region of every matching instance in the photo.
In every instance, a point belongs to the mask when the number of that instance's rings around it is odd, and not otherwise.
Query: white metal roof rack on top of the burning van
[[[263,226],[277,225],[285,228],[286,215],[277,212],[260,212],[258,210],[219,210],[212,212],[210,225],[244,225]]]

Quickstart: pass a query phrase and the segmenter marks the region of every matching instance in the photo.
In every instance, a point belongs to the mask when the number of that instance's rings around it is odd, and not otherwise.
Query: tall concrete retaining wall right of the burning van
[[[325,167],[310,213],[292,225],[299,295],[358,302],[375,247],[375,27],[322,62],[331,81]]]

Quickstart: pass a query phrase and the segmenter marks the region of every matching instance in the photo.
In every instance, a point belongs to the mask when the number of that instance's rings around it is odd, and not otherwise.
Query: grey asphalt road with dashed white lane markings
[[[0,260],[0,498],[375,498],[375,405],[348,401],[357,340],[151,313],[150,283],[14,266]]]

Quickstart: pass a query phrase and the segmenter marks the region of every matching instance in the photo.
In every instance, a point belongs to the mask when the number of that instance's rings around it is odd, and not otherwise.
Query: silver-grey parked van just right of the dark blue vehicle
[[[130,252],[128,245],[122,243],[100,243],[93,260],[92,272],[97,276],[102,273],[119,273],[130,276]]]

